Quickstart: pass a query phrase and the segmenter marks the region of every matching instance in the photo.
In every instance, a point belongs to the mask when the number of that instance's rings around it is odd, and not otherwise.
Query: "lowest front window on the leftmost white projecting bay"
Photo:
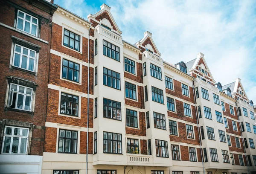
[[[103,132],[103,153],[122,154],[122,134]]]

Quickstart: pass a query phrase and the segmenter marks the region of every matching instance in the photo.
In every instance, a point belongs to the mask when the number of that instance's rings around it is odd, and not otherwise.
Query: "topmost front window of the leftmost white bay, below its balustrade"
[[[115,46],[105,40],[103,40],[103,55],[113,58],[116,61],[120,61],[119,47]]]

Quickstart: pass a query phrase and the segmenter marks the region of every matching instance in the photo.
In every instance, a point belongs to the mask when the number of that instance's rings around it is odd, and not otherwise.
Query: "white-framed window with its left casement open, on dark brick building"
[[[32,110],[33,89],[18,84],[10,84],[8,107]]]

